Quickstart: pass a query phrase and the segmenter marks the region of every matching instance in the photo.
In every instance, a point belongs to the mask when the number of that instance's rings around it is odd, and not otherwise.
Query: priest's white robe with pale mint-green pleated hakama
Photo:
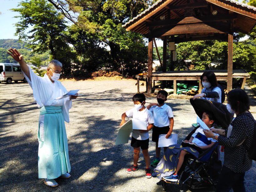
[[[60,81],[52,81],[47,74],[37,76],[30,68],[30,78],[24,74],[40,108],[38,126],[38,177],[55,179],[70,172],[65,123],[69,122],[72,100],[69,96],[59,100],[67,90]]]

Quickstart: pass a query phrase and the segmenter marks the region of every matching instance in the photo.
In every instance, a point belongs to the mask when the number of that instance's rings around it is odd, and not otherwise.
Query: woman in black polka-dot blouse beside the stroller
[[[252,145],[254,135],[254,118],[250,109],[249,97],[242,89],[234,89],[227,95],[228,104],[235,111],[236,118],[231,122],[228,130],[212,129],[204,131],[207,137],[219,141],[224,145],[224,165],[222,167],[217,192],[245,191],[244,174],[252,166],[248,149]],[[219,135],[217,135],[219,134]]]

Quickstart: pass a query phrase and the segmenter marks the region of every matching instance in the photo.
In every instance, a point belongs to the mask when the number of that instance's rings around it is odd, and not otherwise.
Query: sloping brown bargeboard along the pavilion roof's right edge
[[[219,0],[206,0],[206,1],[210,2],[210,3],[213,3],[214,5],[217,5],[219,7],[223,7],[225,9],[228,9],[229,11],[233,11],[233,12],[239,13],[241,15],[245,15],[247,17],[251,17],[251,18],[256,19],[255,11],[253,11],[252,9],[248,10],[245,7],[241,7],[239,5],[236,5],[235,3],[231,3],[231,2],[227,2],[227,1],[225,1],[225,2],[221,2]],[[240,7],[240,8],[238,8],[238,7]],[[248,11],[246,11],[244,9],[247,9]]]

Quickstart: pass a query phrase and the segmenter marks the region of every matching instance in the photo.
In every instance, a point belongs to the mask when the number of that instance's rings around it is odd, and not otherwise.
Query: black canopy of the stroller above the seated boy
[[[221,126],[223,129],[227,129],[233,118],[229,113],[227,107],[219,102],[208,101],[205,99],[190,99],[191,105],[194,107],[196,114],[202,118],[205,111],[209,111],[214,116],[214,122]]]

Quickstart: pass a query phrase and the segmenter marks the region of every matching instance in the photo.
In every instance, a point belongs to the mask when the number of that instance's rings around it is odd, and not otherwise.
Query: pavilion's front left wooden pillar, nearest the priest
[[[153,65],[153,38],[152,32],[149,31],[148,39],[148,83],[147,83],[147,93],[152,92],[152,65]]]

